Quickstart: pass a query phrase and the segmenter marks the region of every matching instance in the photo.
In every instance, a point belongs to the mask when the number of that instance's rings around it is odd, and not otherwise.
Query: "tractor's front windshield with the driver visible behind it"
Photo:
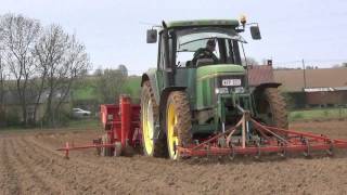
[[[233,29],[228,28],[201,27],[178,30],[176,65],[178,67],[241,65],[239,42],[245,40]]]

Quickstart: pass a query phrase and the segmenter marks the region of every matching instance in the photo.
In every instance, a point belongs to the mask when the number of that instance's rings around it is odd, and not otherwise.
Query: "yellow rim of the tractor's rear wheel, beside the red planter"
[[[153,119],[153,104],[149,99],[144,102],[142,107],[142,133],[144,150],[147,155],[153,154],[153,133],[154,133],[154,119]]]

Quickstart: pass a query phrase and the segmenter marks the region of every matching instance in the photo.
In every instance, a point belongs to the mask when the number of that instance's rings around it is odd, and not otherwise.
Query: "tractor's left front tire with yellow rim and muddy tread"
[[[181,159],[177,146],[192,143],[192,121],[189,99],[183,91],[174,91],[169,94],[166,104],[166,136],[169,157]]]

